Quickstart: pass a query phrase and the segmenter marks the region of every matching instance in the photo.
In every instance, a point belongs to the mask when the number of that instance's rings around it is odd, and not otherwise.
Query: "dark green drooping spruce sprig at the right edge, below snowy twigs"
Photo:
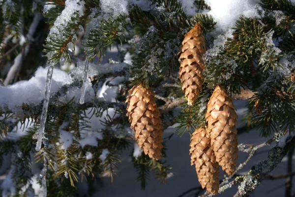
[[[272,79],[275,76],[270,76]],[[295,131],[295,108],[293,99],[282,91],[288,89],[281,79],[278,83],[268,81],[254,94],[251,102],[253,117],[251,122],[261,129],[262,136],[269,136],[273,131]],[[280,89],[279,89],[280,87]]]

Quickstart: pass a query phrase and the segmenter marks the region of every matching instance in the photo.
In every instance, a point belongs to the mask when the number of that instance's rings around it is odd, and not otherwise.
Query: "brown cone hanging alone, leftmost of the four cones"
[[[150,158],[160,159],[163,128],[155,103],[155,94],[151,88],[141,84],[134,85],[129,90],[126,103],[128,103],[127,116],[139,147],[143,148]]]

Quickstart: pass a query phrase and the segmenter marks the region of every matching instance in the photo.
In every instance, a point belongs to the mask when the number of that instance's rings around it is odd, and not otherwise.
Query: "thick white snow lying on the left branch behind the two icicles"
[[[83,61],[78,62],[78,67],[71,73],[66,73],[62,70],[55,69],[53,75],[51,92],[51,103],[55,105],[64,105],[74,98],[73,102],[78,105],[81,94],[81,82],[83,78]],[[95,65],[90,64],[89,80],[86,85],[86,102],[92,102],[95,99],[95,91],[92,87],[92,82],[95,80],[103,80],[108,76],[124,76],[129,64],[126,63],[114,63]],[[38,68],[35,76],[29,81],[21,81],[13,85],[0,86],[0,110],[17,114],[23,113],[23,106],[27,106],[29,109],[40,108],[42,100],[44,99],[44,84],[46,82],[45,68]],[[29,92],[29,94],[28,94]],[[113,96],[114,94],[112,94]],[[99,98],[102,97],[102,98]],[[97,99],[103,101],[110,101],[109,98],[97,95]],[[39,110],[35,109],[35,113],[39,113]],[[41,108],[40,108],[41,110]]]

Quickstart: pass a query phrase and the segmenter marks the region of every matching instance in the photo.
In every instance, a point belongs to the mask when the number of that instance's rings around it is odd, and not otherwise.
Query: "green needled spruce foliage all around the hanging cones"
[[[81,9],[75,7],[77,10],[65,13],[74,9],[68,7],[70,1]],[[8,76],[7,68],[17,62],[19,54],[23,55],[22,68],[14,81],[29,79],[45,61],[68,71],[71,63],[77,65],[88,59],[97,68],[97,73],[88,78],[89,89],[96,95],[90,101],[80,105],[73,96],[64,102],[63,98],[71,95],[69,92],[74,88],[80,90],[83,82],[78,75],[51,95],[39,152],[34,147],[43,101],[24,101],[18,110],[0,105],[0,168],[6,168],[4,171],[15,189],[7,196],[34,195],[33,180],[41,186],[42,178],[46,178],[48,197],[78,197],[77,182],[99,181],[102,174],[116,181],[120,155],[134,142],[124,103],[128,89],[134,84],[153,87],[160,113],[163,112],[164,127],[178,123],[180,135],[191,135],[196,128],[207,127],[207,102],[216,84],[223,85],[230,95],[238,95],[243,89],[255,92],[248,98],[251,102],[245,117],[249,127],[259,129],[261,136],[295,132],[295,5],[290,0],[261,0],[258,16],[240,17],[232,36],[221,35],[229,37],[218,44],[214,43],[217,36],[212,32],[217,22],[203,13],[210,10],[205,0],[194,1],[197,10],[194,16],[185,12],[179,0],[148,0],[148,9],[136,2],[128,1],[126,12],[106,13],[100,0],[0,1],[1,79]],[[33,16],[40,12],[44,18],[34,24]],[[63,14],[67,14],[68,20],[60,20]],[[195,103],[188,106],[182,102],[176,106],[180,109],[177,111],[176,107],[169,108],[169,104],[177,99],[185,100],[177,78],[181,42],[197,22],[207,42],[205,82]],[[32,24],[39,32],[37,36],[36,32],[29,34]],[[100,73],[102,65],[97,62],[116,46],[121,56],[119,61],[128,53],[132,66]],[[26,47],[32,54],[25,55]],[[42,47],[42,52],[33,53],[33,48]],[[110,62],[110,67],[119,64]],[[111,83],[122,76],[124,81],[120,85]],[[103,85],[118,88],[115,101],[107,100],[105,95],[98,98]],[[93,131],[91,118],[103,129]],[[61,133],[70,136],[69,145],[62,141]],[[93,138],[92,144],[81,143],[87,135]],[[150,171],[161,182],[169,177],[171,167],[165,161],[166,149],[162,150],[164,158],[157,161],[144,153],[134,156],[133,151],[130,157],[142,189]]]

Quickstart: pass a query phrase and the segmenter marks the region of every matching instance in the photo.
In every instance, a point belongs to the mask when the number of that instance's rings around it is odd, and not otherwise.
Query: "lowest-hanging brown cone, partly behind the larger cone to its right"
[[[196,129],[190,143],[191,165],[196,165],[199,182],[202,188],[211,194],[218,194],[219,169],[210,138],[204,128]]]

